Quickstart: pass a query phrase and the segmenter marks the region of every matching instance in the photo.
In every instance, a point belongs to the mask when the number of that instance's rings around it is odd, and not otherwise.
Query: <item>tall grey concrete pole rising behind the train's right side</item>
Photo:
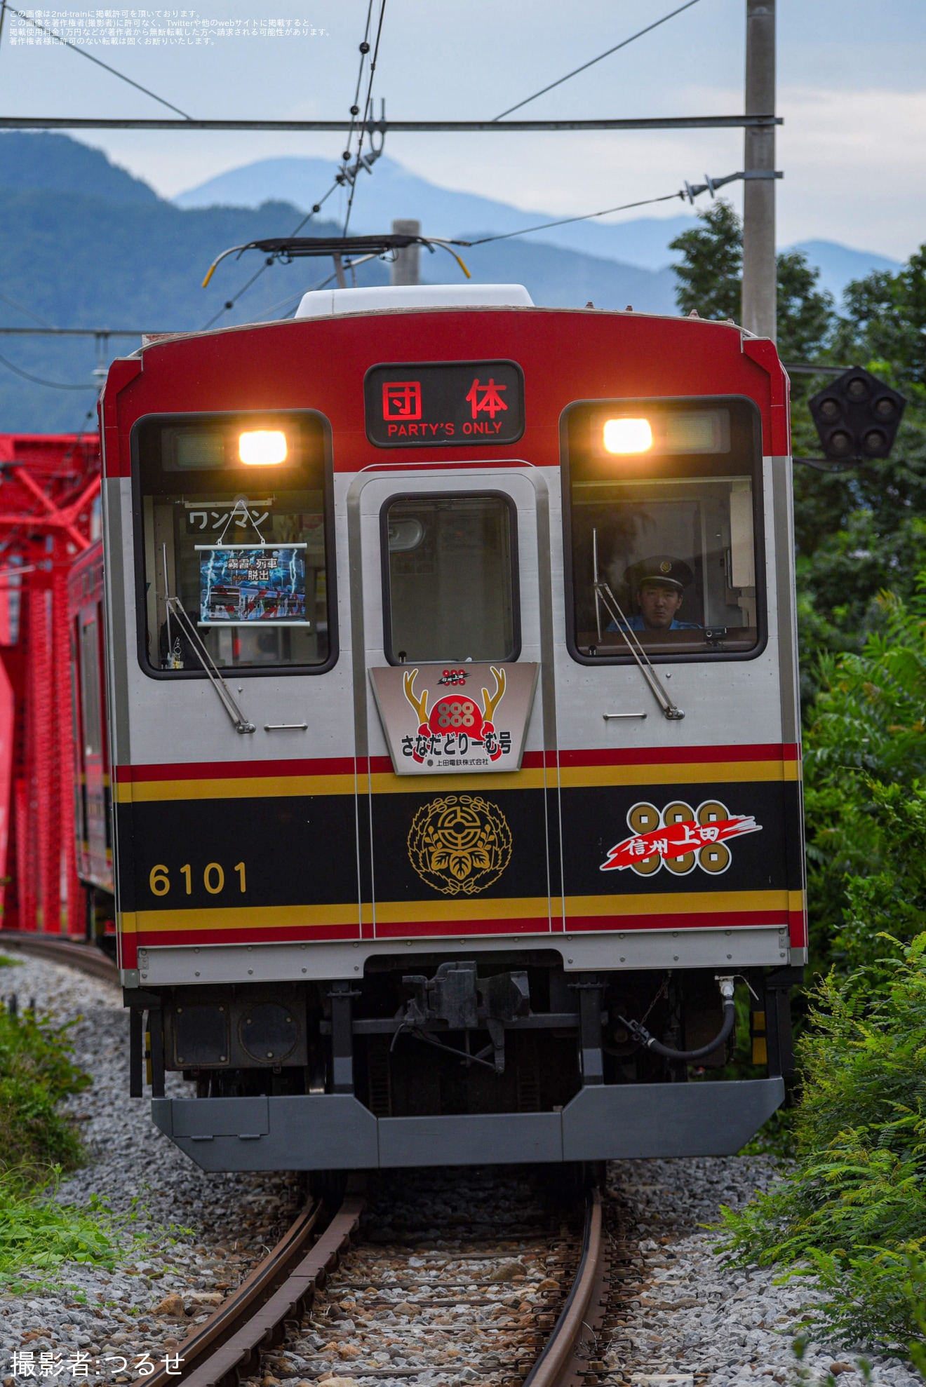
[[[746,114],[775,114],[775,0],[746,0]],[[758,337],[776,334],[775,126],[746,130],[743,168],[743,326]]]

